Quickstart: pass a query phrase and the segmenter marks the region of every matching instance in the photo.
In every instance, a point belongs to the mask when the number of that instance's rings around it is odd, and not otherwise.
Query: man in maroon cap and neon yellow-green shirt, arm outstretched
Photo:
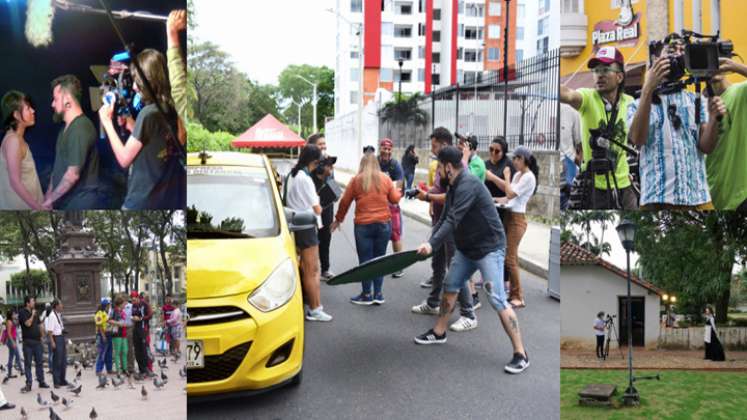
[[[586,169],[592,159],[590,141],[591,129],[608,129],[611,140],[626,143],[627,127],[625,125],[625,110],[633,102],[633,98],[623,93],[625,84],[625,62],[622,53],[614,47],[600,48],[589,60],[588,67],[594,74],[595,88],[570,89],[560,87],[560,102],[572,106],[581,114],[581,146],[583,148],[583,169]],[[615,115],[615,120],[610,121]],[[631,187],[630,170],[627,154],[620,145],[610,142],[607,157],[613,164],[614,171],[610,174],[610,188],[614,188],[615,181],[623,209],[633,210],[638,207],[638,200]],[[614,178],[614,181],[613,179]],[[593,197],[591,203],[595,208],[608,208],[612,200],[604,174],[594,177]]]

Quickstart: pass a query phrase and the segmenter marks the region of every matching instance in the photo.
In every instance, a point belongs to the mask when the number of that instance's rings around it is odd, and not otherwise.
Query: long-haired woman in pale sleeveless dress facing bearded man
[[[5,137],[0,143],[0,209],[41,210],[44,193],[23,137],[36,123],[34,108],[28,96],[16,90],[3,95],[1,106]]]

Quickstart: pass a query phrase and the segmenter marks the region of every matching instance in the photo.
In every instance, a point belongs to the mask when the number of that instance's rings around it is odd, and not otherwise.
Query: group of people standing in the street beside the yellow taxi
[[[334,177],[334,158],[326,154],[321,135],[309,138],[298,161],[284,180],[283,200],[296,211],[313,212],[318,224],[295,233],[300,254],[305,317],[309,321],[332,321],[321,303],[320,281],[334,276],[329,271],[329,233],[340,229],[355,202],[354,235],[358,262],[363,264],[386,254],[389,242],[394,253],[403,249],[400,201],[405,191],[412,198],[429,203],[431,237],[417,248],[432,256],[432,276],[421,286],[429,288],[427,299],[412,307],[417,314],[437,315],[435,326],[417,335],[417,344],[446,342],[446,329],[468,331],[477,328],[475,310],[481,304],[477,286],[486,291],[491,306],[513,345],[509,373],[529,366],[515,309],[526,302],[521,288],[518,247],[527,228],[526,206],[537,190],[539,168],[525,147],[513,151],[496,137],[490,144],[490,159],[479,154],[474,136],[454,135],[438,127],[430,135],[432,161],[428,185],[410,189],[419,159],[414,146],[408,147],[402,163],[393,158],[393,142],[384,138],[376,148],[366,146],[357,174],[348,182],[332,216],[334,202],[323,203],[321,189]],[[408,194],[409,195],[409,194]],[[327,217],[325,217],[325,213]],[[425,238],[424,238],[425,239]],[[321,260],[321,261],[320,261]],[[320,269],[321,264],[321,269]],[[481,279],[473,281],[475,271]],[[392,273],[402,277],[403,272]],[[365,279],[360,293],[350,302],[356,305],[384,304],[383,277]],[[504,282],[505,280],[505,282]],[[448,325],[456,301],[460,317]]]

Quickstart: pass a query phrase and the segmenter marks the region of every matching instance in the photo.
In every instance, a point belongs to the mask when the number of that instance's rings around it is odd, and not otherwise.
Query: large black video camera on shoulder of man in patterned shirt
[[[683,89],[688,84],[708,81],[718,73],[719,58],[734,56],[734,44],[730,40],[721,40],[719,32],[716,35],[703,35],[683,29],[681,35],[670,36],[663,41],[651,41],[648,44],[649,57],[653,60],[661,54],[662,49],[672,41],[680,40],[685,46],[685,53],[681,55],[668,54],[669,75],[666,82],[659,87],[661,92],[671,92]],[[687,80],[682,80],[689,76]]]

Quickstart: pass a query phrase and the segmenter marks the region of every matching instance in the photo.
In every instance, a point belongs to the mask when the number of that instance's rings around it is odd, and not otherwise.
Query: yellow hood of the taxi
[[[289,256],[280,237],[187,244],[187,299],[250,293]]]

